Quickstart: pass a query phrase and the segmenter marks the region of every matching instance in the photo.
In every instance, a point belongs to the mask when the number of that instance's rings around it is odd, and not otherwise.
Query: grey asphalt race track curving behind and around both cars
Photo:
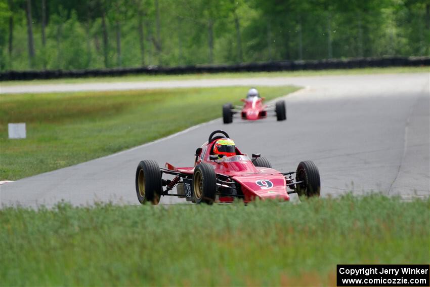
[[[135,172],[141,159],[155,159],[161,166],[166,161],[191,166],[195,149],[218,129],[228,132],[241,151],[262,153],[280,171],[293,171],[299,161],[314,160],[322,196],[351,190],[407,199],[428,196],[429,77],[430,73],[411,73],[4,87],[2,93],[64,91],[64,86],[83,91],[241,85],[244,95],[250,86],[306,88],[284,98],[287,121],[235,119],[223,125],[216,119],[117,154],[3,184],[0,201],[3,206],[52,206],[62,199],[77,205],[109,200],[138,204]],[[163,204],[175,202],[185,200],[161,199]]]

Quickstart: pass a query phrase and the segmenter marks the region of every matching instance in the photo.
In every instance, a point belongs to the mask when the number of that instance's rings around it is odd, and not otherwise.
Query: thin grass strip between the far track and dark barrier
[[[322,75],[355,75],[382,73],[419,73],[430,72],[430,67],[390,67],[390,68],[362,68],[362,69],[333,69],[333,70],[303,70],[282,72],[238,72],[238,73],[201,73],[184,75],[125,75],[115,77],[64,78],[51,80],[3,81],[2,86],[40,85],[40,84],[74,84],[99,83],[115,81],[150,81],[150,80],[181,80],[205,78],[247,78],[247,77],[281,77],[281,76],[322,76]]]

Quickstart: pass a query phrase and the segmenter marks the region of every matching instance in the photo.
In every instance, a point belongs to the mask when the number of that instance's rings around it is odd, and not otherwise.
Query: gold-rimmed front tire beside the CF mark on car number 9
[[[194,168],[193,191],[195,203],[212,204],[217,193],[217,176],[209,163],[199,163]]]

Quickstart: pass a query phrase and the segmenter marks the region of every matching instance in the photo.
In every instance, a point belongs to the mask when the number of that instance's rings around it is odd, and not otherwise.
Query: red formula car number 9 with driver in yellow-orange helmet
[[[175,186],[177,193],[171,193]],[[300,162],[296,171],[278,172],[260,154],[252,154],[250,159],[241,153],[229,135],[218,130],[197,148],[194,167],[176,168],[166,163],[160,168],[154,160],[142,160],[136,171],[136,193],[142,204],[158,204],[161,196],[208,204],[234,198],[244,202],[255,198],[289,200],[291,193],[319,196],[320,175],[310,160]]]

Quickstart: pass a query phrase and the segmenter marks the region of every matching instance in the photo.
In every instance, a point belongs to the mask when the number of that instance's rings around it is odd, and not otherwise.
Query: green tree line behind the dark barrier
[[[0,0],[0,70],[430,55],[430,0]]]

